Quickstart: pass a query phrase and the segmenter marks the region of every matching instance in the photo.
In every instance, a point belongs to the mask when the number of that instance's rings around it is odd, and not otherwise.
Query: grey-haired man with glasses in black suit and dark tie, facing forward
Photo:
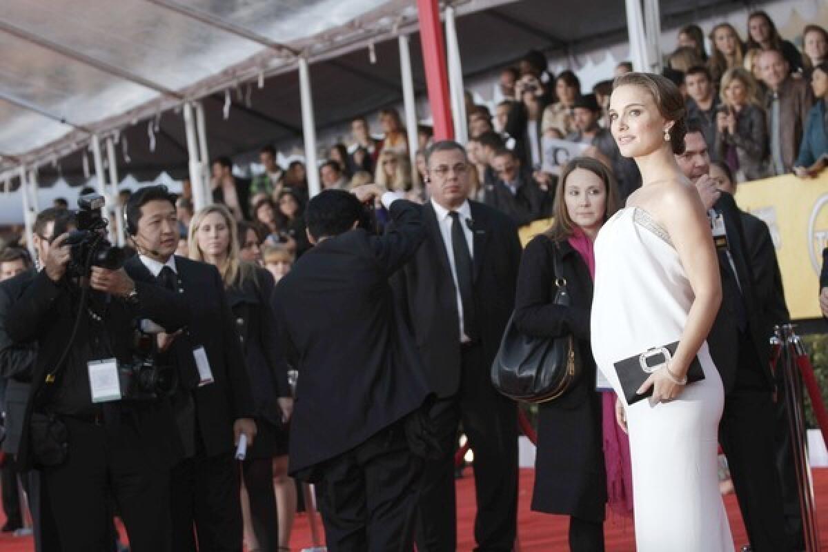
[[[426,462],[419,550],[455,550],[457,430],[474,450],[476,550],[512,550],[517,523],[517,406],[494,390],[490,368],[514,306],[521,246],[507,215],[468,199],[463,146],[426,153],[427,237],[394,290],[415,334],[431,388],[441,458]]]

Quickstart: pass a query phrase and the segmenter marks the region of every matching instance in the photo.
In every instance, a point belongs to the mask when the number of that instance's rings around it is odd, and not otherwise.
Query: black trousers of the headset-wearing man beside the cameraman
[[[172,468],[172,550],[242,552],[236,464],[232,452],[215,456],[200,453]]]

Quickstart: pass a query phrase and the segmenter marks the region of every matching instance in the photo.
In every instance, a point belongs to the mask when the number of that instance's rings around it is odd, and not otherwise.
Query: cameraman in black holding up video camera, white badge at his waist
[[[103,197],[78,204],[78,229],[43,248],[43,270],[7,311],[8,337],[37,343],[17,460],[41,471],[61,550],[112,544],[110,496],[134,552],[171,550],[160,505],[179,445],[159,369],[135,350],[136,321],[178,329],[187,307],[123,271],[123,251],[105,238]]]

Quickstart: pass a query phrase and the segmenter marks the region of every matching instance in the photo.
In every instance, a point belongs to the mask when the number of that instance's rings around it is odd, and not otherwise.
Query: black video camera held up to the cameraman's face
[[[126,260],[122,247],[106,238],[107,221],[101,216],[103,195],[86,194],[78,198],[77,229],[69,233],[65,244],[71,246],[66,271],[70,276],[87,276],[91,266],[118,270]]]

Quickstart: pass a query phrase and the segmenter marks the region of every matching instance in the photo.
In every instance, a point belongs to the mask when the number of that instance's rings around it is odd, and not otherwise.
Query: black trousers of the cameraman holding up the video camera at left
[[[132,552],[169,552],[170,472],[147,462],[137,436],[123,424],[118,436],[102,425],[66,418],[65,463],[42,472],[61,550],[111,550],[114,497]]]

